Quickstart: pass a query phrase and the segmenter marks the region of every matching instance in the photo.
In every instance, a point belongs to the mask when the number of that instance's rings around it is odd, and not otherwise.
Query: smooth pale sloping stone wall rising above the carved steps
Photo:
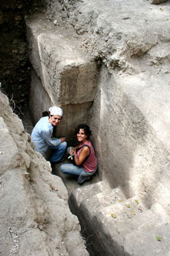
[[[154,68],[146,63],[136,60],[136,67],[150,70],[136,76],[118,77],[117,72],[111,76],[103,68],[90,124],[103,177],[112,186],[120,186],[127,198],[139,193],[148,207],[156,200],[166,209],[170,196],[169,74],[152,76]],[[106,79],[108,84],[104,84]]]

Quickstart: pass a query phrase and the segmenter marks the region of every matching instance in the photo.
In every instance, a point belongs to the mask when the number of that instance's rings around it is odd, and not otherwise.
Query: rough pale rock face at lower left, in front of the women
[[[2,93],[0,111],[0,254],[89,255],[62,180],[34,150]]]

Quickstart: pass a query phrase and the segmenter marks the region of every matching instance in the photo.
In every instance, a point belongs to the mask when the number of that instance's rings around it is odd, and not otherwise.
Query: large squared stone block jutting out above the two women
[[[32,66],[53,104],[94,100],[96,63],[80,49],[73,36],[64,29],[53,33],[53,22],[47,26],[46,19],[37,16],[27,20],[27,38]]]

